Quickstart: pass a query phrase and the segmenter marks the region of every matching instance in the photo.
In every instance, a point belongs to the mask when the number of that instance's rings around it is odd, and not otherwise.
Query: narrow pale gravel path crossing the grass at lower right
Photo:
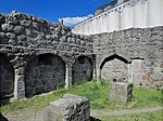
[[[118,111],[110,111],[110,112],[102,112],[104,116],[121,116],[121,115],[131,115],[131,113],[145,113],[145,112],[153,112],[163,110],[163,106],[152,107],[152,108],[143,108],[143,109],[125,109]]]

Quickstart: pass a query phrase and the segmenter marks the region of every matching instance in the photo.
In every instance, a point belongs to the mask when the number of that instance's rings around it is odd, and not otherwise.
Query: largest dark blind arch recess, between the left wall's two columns
[[[58,55],[40,54],[28,62],[25,70],[26,97],[65,85],[65,63]]]

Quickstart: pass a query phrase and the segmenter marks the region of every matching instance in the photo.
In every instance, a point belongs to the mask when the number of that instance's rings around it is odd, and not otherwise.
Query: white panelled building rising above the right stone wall
[[[163,26],[163,0],[118,0],[111,9],[74,26],[73,32],[93,35],[127,28]]]

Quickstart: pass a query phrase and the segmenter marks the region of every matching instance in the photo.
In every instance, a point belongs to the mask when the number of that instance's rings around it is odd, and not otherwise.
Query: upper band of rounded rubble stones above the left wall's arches
[[[92,53],[88,36],[74,35],[61,24],[12,12],[0,14],[0,44],[22,45],[34,49],[52,49],[63,52]]]

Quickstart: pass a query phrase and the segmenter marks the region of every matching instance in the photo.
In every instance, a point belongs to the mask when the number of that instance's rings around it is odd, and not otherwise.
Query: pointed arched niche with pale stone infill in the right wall
[[[125,81],[128,79],[128,60],[118,55],[106,57],[101,66],[101,79]]]

